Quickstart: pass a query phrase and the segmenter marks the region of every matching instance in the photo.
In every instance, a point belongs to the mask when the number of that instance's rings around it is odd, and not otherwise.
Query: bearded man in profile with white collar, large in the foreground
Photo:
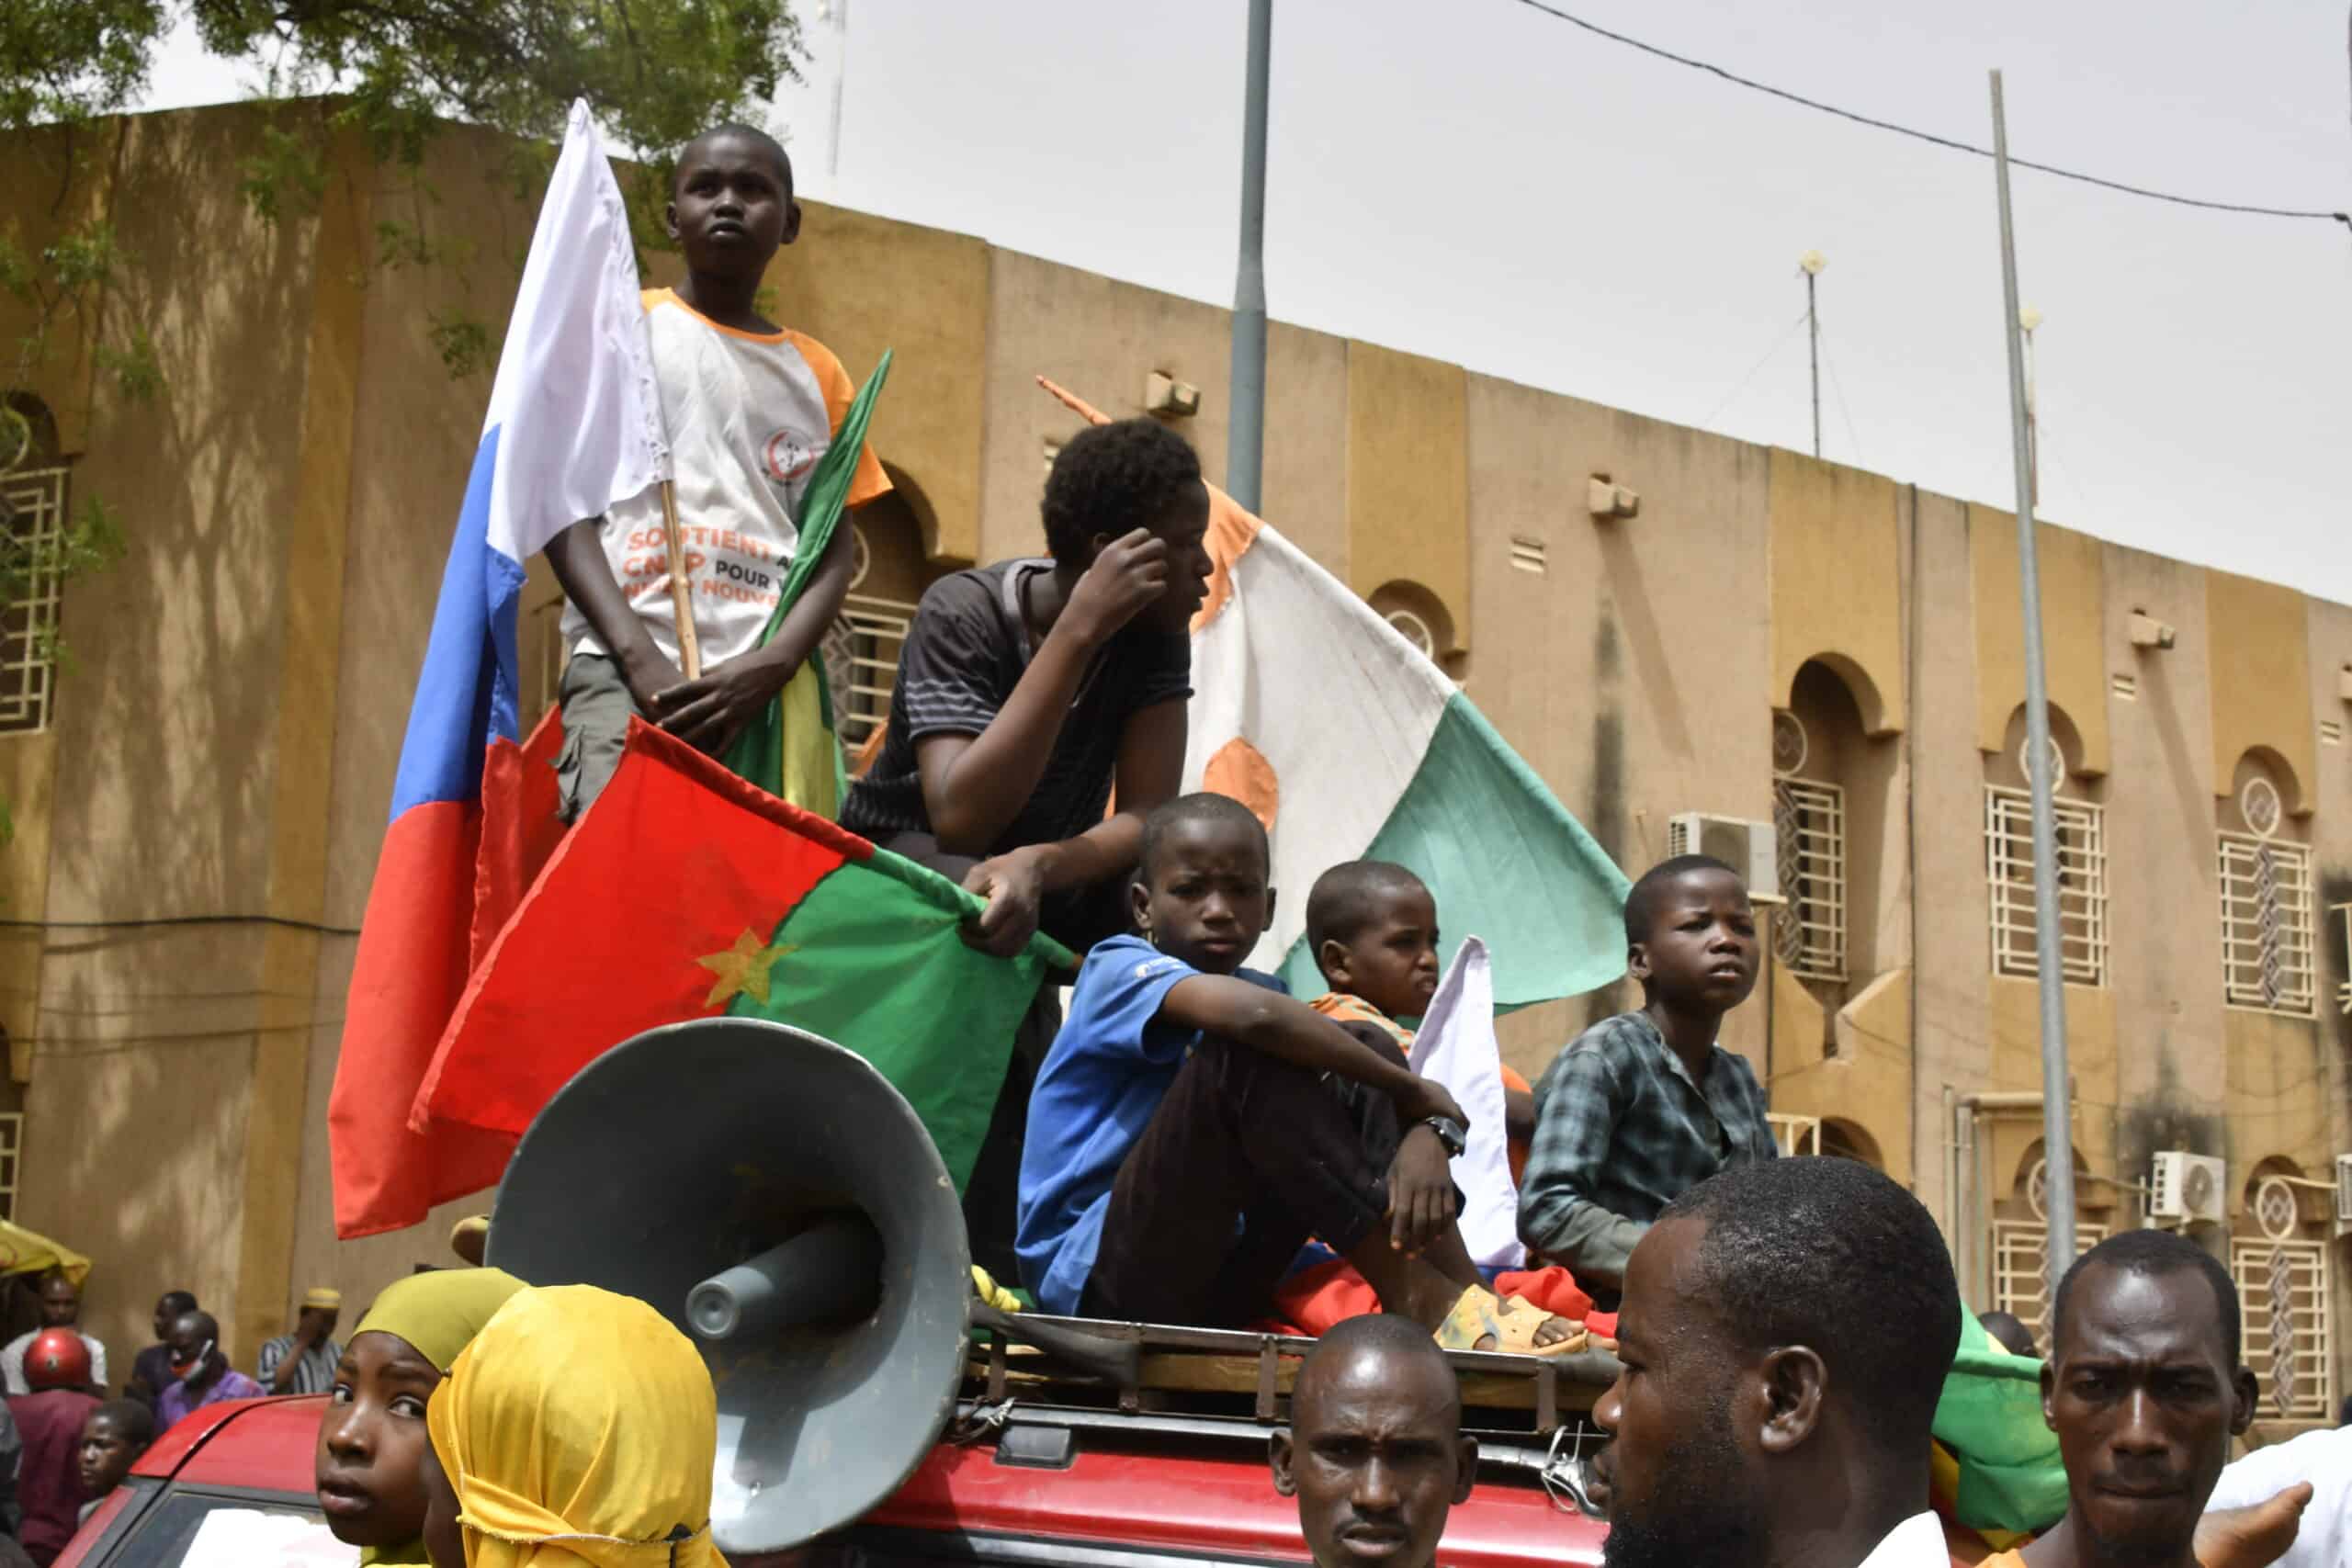
[[[1950,1568],[1924,1509],[1959,1281],[1919,1199],[1851,1159],[1733,1166],[1625,1265],[1592,1408],[1606,1568]]]

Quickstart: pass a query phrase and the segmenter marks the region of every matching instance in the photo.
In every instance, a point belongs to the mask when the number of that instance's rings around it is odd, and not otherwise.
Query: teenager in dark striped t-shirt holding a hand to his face
[[[1183,437],[1148,418],[1094,425],[1044,482],[1051,559],[957,571],[922,595],[882,752],[842,825],[983,896],[976,945],[1018,952],[1042,924],[1084,952],[1127,929],[1143,818],[1183,783],[1207,529]],[[1018,1276],[1021,1135],[1056,1023],[1044,992],[964,1187],[971,1260],[1000,1279]]]

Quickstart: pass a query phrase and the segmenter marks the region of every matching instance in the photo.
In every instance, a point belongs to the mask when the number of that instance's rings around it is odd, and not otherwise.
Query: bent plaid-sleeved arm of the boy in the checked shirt
[[[1519,1182],[1519,1241],[1585,1284],[1621,1286],[1649,1225],[1595,1201],[1618,1124],[1618,1084],[1599,1051],[1559,1056],[1541,1084],[1536,1138]]]

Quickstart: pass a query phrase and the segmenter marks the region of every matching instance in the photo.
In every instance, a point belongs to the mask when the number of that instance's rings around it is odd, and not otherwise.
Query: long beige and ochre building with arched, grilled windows
[[[395,181],[332,139],[318,209],[263,226],[238,195],[259,129],[249,108],[108,122],[64,200],[0,193],[33,240],[103,214],[132,254],[40,367],[54,435],[9,480],[16,527],[103,496],[129,557],[12,611],[54,614],[71,663],[9,644],[0,693],[14,1213],[99,1260],[92,1328],[125,1366],[165,1286],[249,1359],[303,1286],[365,1300],[445,1260],[454,1218],[339,1246],[325,1100],[489,393],[449,381],[428,327],[459,303],[503,317],[532,209],[452,132],[430,221],[477,259],[386,270]],[[828,207],[771,284],[854,376],[898,355],[875,444],[903,505],[870,520],[837,646],[868,686],[844,693],[854,736],[924,583],[1040,548],[1075,421],[1037,371],[1117,414],[1155,374],[1200,388],[1176,423],[1223,470],[1221,308]],[[96,360],[134,324],[165,362],[155,404]],[[1788,903],[1726,1044],[1795,1140],[1919,1192],[1971,1305],[2039,1316],[2011,517],[1298,327],[1275,324],[1268,383],[1265,515],[1425,639],[1628,870],[1684,813],[1778,827]],[[2265,1413],[2310,1420],[2347,1375],[2352,607],[2060,527],[2042,583],[2077,1222],[2154,1206],[2230,1258]],[[557,651],[553,585],[534,592],[536,708]],[[1522,1013],[1510,1056],[1536,1072],[1623,1004]]]

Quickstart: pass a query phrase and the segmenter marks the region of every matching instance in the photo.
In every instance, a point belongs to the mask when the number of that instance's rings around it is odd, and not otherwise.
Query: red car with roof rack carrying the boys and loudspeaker
[[[1268,1354],[1261,1335],[1230,1338]],[[1308,1561],[1298,1505],[1275,1493],[1265,1467],[1272,1422],[1261,1415],[1272,1413],[1275,1389],[1272,1373],[1263,1382],[1251,1375],[1256,1354],[1162,1361],[1148,1378],[1157,1396],[1145,1392],[1122,1408],[1056,1401],[1051,1385],[1021,1380],[1018,1368],[1007,1389],[1000,1361],[993,1387],[974,1380],[957,1422],[922,1467],[863,1519],[826,1535],[797,1568]],[[1526,1373],[1508,1371],[1515,1361],[1524,1368],[1515,1356],[1456,1356],[1465,1392],[1472,1380],[1526,1389]],[[1169,1394],[1171,1382],[1183,1392]],[[990,1401],[993,1389],[1014,1399]],[[318,1521],[310,1474],[325,1408],[325,1396],[205,1406],[139,1460],[56,1568],[179,1568],[205,1519],[221,1509]],[[1566,1425],[1557,1448],[1534,1436],[1534,1422],[1479,1432],[1479,1481],[1446,1521],[1446,1568],[1599,1563],[1604,1526],[1573,1507],[1581,1469],[1566,1460],[1585,1427],[1571,1410],[1559,1415]],[[1475,1408],[1472,1429],[1486,1418]],[[1508,1425],[1508,1413],[1498,1422]],[[755,1559],[731,1561],[755,1568]]]

